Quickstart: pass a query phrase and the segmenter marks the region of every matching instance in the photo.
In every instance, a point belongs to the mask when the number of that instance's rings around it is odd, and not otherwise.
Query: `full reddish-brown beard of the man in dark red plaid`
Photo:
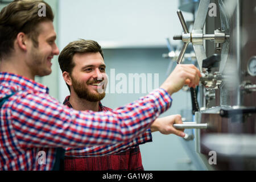
[[[91,93],[84,83],[77,81],[73,77],[71,77],[71,80],[72,80],[73,89],[76,92],[77,97],[85,99],[90,102],[98,102],[105,97],[105,92]]]

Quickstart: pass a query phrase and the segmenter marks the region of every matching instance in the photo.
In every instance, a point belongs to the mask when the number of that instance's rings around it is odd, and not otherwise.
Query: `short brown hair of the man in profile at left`
[[[40,17],[40,3],[46,5],[46,16]],[[18,0],[11,2],[0,12],[0,59],[14,49],[14,40],[19,32],[24,32],[38,47],[38,24],[53,22],[54,15],[51,7],[44,1]]]

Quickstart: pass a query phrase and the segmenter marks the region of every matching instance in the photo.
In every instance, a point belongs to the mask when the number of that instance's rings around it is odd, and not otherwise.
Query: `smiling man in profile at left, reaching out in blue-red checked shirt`
[[[46,16],[38,16],[41,3]],[[68,108],[34,81],[51,73],[59,54],[52,21],[43,1],[13,1],[0,12],[0,171],[57,170],[63,148],[129,142],[171,106],[173,93],[199,84],[198,69],[179,66],[159,89],[113,111]]]

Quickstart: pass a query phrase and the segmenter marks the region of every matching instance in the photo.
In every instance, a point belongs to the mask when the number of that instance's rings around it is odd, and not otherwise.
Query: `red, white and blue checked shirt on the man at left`
[[[51,170],[56,147],[129,142],[171,106],[163,89],[113,111],[77,111],[49,96],[46,86],[0,73],[0,170]],[[43,163],[42,162],[43,158]]]

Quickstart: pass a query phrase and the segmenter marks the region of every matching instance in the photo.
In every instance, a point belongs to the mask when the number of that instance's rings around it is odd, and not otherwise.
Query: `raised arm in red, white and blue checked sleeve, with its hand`
[[[195,87],[199,80],[200,72],[194,65],[177,65],[160,89],[113,111],[96,113],[69,109],[46,93],[27,91],[13,96],[6,104],[6,115],[21,147],[84,147],[129,142],[144,133],[171,106],[171,94],[185,84]],[[166,133],[165,129],[157,128]]]

